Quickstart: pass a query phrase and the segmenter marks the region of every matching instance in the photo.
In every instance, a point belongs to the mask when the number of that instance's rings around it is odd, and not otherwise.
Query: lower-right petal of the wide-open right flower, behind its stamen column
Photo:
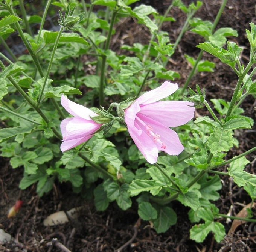
[[[160,136],[160,142],[163,142],[166,145],[166,148],[161,148],[161,144],[159,142],[155,143],[158,150],[165,151],[169,155],[178,155],[184,150],[184,147],[174,130],[169,129],[162,123],[152,120],[145,115],[137,114],[137,116],[147,125],[150,125],[152,127],[152,132],[154,132],[154,134],[158,134]],[[142,130],[143,132],[146,132],[145,127],[142,127]]]

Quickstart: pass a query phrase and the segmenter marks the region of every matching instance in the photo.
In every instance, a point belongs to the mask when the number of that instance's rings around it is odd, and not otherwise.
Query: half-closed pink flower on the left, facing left
[[[63,136],[61,151],[66,151],[90,139],[102,124],[96,123],[90,117],[98,114],[70,101],[64,95],[61,96],[61,105],[74,116],[66,118],[61,122],[61,133]]]

